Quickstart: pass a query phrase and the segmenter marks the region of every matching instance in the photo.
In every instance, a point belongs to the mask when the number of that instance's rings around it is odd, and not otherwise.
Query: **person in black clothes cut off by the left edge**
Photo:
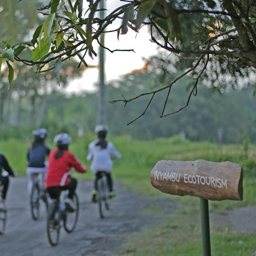
[[[5,198],[9,186],[9,178],[2,174],[2,168],[4,168],[12,177],[16,177],[17,174],[10,167],[8,160],[2,152],[0,152],[0,184],[3,185],[2,197],[0,197],[0,210],[5,210]]]

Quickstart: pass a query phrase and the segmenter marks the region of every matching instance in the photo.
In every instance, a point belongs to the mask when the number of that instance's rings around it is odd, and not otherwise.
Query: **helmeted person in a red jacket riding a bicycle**
[[[45,179],[45,187],[51,199],[59,200],[62,190],[68,189],[68,197],[65,199],[65,205],[68,211],[74,211],[75,205],[72,201],[77,180],[70,176],[73,167],[80,173],[86,172],[86,166],[82,166],[76,157],[68,151],[68,144],[72,142],[67,133],[60,133],[53,140],[57,148],[49,154],[48,171]],[[54,208],[53,206],[50,207]],[[51,209],[49,209],[51,211]],[[53,216],[54,217],[54,216]]]

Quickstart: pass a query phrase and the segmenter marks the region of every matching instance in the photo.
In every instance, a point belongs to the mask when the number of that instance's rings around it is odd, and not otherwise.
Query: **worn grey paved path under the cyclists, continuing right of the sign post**
[[[144,209],[159,205],[164,215],[170,214],[177,206],[172,200],[145,199],[121,189],[120,184],[115,183],[117,197],[110,202],[111,209],[107,217],[100,219],[98,205],[91,203],[92,182],[79,181],[80,212],[77,227],[70,234],[61,229],[59,245],[52,247],[47,240],[44,208],[41,208],[42,214],[38,221],[31,218],[26,186],[26,177],[10,180],[8,222],[6,232],[0,236],[1,256],[110,256],[118,252],[123,234],[139,231],[143,226],[161,220],[159,214],[143,214]],[[256,233],[256,206],[234,209],[223,218],[210,215],[210,224],[214,221],[229,224],[234,232]]]

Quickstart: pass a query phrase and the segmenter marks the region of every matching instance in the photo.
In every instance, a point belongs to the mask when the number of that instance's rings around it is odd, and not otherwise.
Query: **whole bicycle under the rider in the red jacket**
[[[77,224],[78,212],[79,212],[79,201],[78,196],[75,193],[73,196],[73,203],[76,206],[76,210],[70,212],[66,209],[64,200],[68,195],[68,190],[61,191],[61,195],[58,200],[52,200],[51,205],[54,208],[54,218],[50,220],[50,213],[48,211],[47,216],[47,236],[50,244],[55,246],[58,244],[60,236],[61,225],[64,226],[64,229],[71,233]]]

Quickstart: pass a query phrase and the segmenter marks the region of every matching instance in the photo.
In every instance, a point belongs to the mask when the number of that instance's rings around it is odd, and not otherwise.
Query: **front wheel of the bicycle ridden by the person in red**
[[[77,220],[78,220],[79,202],[78,202],[78,196],[76,193],[73,196],[73,203],[76,206],[76,210],[73,212],[68,212],[66,210],[65,216],[63,218],[64,228],[68,233],[70,233],[74,230],[74,228],[76,227]]]

